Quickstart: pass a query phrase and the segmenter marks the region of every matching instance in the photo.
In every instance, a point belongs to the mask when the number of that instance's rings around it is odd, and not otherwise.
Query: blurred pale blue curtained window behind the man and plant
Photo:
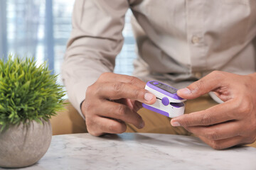
[[[65,46],[70,36],[74,0],[0,0],[0,55],[9,54],[47,61],[60,74]],[[134,38],[127,11],[123,30],[124,46],[117,56],[114,72],[131,75]],[[62,84],[60,76],[58,83]]]

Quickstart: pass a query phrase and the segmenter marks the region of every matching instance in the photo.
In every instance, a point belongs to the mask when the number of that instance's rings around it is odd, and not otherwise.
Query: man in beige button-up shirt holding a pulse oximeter
[[[75,1],[63,81],[90,134],[145,132],[145,125],[154,125],[161,115],[137,111],[156,101],[144,90],[145,81],[156,79],[183,88],[178,96],[188,100],[213,91],[210,96],[223,101],[172,119],[174,127],[215,149],[254,142],[255,6],[255,0]],[[111,73],[128,8],[138,48],[134,77]]]

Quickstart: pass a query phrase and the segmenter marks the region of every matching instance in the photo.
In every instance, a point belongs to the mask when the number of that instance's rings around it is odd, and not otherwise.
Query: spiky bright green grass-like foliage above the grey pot
[[[46,62],[9,55],[0,60],[0,132],[9,125],[49,120],[63,109],[63,86],[50,74]]]

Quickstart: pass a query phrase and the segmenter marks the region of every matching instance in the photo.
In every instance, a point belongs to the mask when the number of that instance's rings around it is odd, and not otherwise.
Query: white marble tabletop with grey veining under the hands
[[[53,136],[46,155],[25,169],[256,169],[256,148],[214,150],[196,137],[133,134]]]

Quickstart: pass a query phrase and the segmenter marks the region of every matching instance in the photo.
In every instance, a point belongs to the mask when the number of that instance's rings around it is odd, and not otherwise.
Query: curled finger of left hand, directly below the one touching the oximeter
[[[98,107],[95,112],[97,115],[103,117],[114,118],[122,120],[125,123],[131,123],[139,129],[143,128],[145,125],[142,117],[138,113],[132,111],[128,106],[120,103],[102,101],[102,105]]]

